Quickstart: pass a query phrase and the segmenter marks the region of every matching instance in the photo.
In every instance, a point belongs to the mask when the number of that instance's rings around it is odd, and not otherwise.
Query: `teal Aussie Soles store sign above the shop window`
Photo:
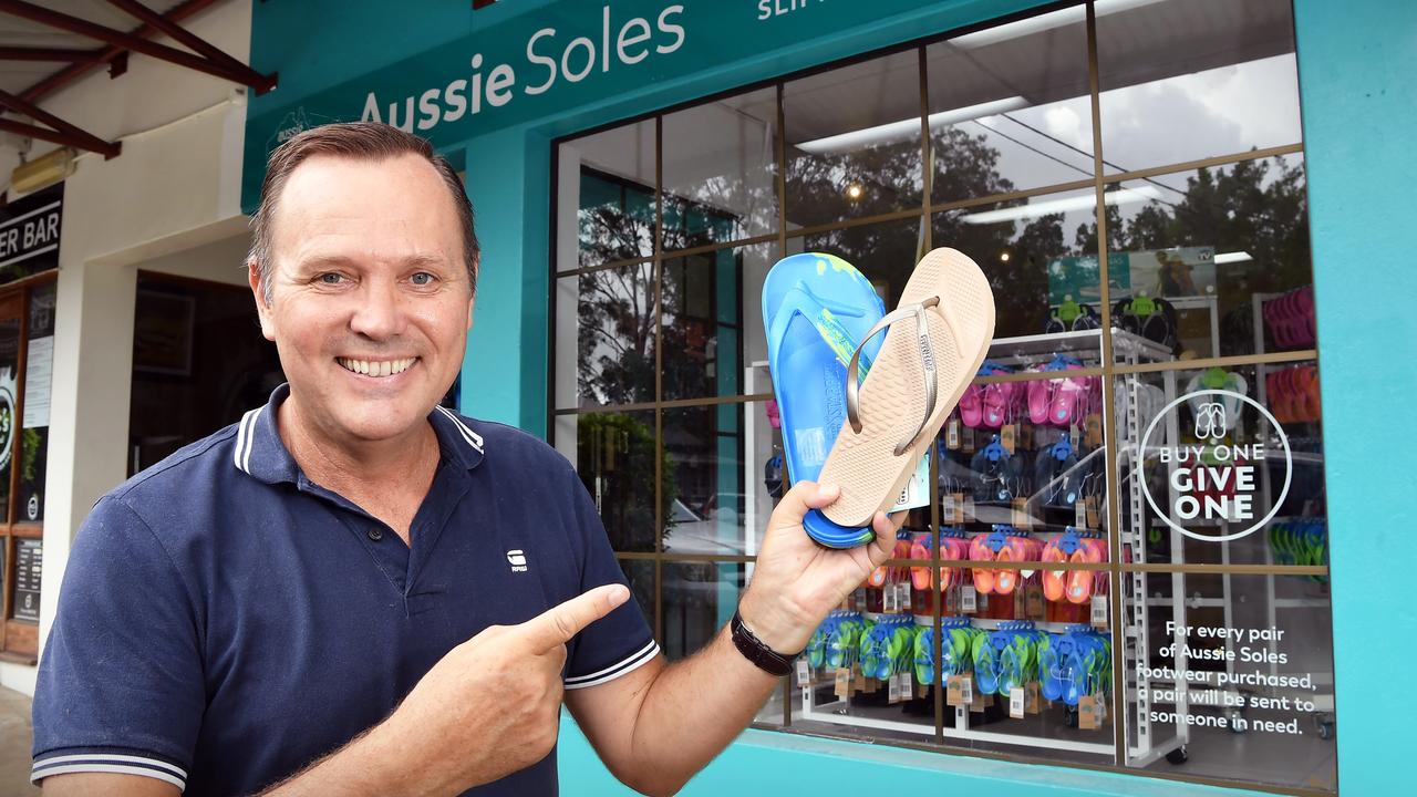
[[[1000,3],[996,11],[1032,1]],[[721,72],[734,62],[761,60],[896,14],[918,14],[922,7],[938,9],[948,20],[941,24],[976,21],[965,14],[978,10],[955,6],[920,0],[561,0],[529,7],[387,68],[332,81],[296,102],[275,105],[279,91],[255,98],[247,121],[242,206],[254,210],[269,152],[315,123],[378,121],[448,146],[666,81]],[[485,16],[469,17],[468,24]],[[283,27],[268,20],[281,20]],[[307,20],[258,9],[252,38],[299,38],[302,47],[316,48],[349,44],[322,43],[320,30],[309,27],[285,30],[298,23]],[[288,78],[282,64],[268,68]]]

